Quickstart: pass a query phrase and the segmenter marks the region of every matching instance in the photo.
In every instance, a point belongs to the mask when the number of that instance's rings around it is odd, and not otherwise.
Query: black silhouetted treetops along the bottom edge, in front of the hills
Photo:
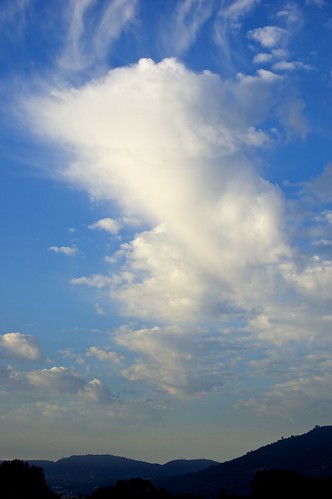
[[[332,477],[314,478],[290,470],[262,470],[256,473],[247,496],[238,496],[229,491],[220,491],[217,498],[245,497],[250,499],[327,499],[332,497]],[[4,461],[0,464],[1,499],[59,499],[45,480],[44,471],[20,460]],[[149,480],[133,478],[118,480],[116,485],[99,487],[89,499],[203,499],[194,494],[174,494],[156,487]]]

